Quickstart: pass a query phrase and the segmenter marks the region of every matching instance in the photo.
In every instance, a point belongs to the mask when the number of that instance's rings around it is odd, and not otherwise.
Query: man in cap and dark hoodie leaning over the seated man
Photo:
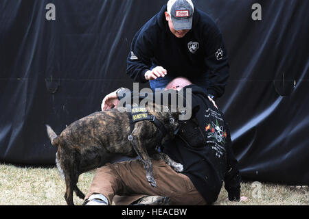
[[[152,90],[176,77],[202,87],[214,103],[229,77],[227,50],[211,18],[191,0],[170,0],[135,34],[126,73]]]

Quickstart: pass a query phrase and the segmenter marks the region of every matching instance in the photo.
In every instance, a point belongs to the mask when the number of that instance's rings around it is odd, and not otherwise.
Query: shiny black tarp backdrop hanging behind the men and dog
[[[48,3],[56,20],[47,21]],[[45,123],[65,125],[100,110],[124,86],[135,32],[161,1],[0,2],[0,162],[53,165]],[[220,27],[231,64],[218,105],[231,125],[243,179],[309,183],[309,1],[194,1]],[[253,3],[262,21],[253,21]],[[140,85],[144,88],[146,85]]]

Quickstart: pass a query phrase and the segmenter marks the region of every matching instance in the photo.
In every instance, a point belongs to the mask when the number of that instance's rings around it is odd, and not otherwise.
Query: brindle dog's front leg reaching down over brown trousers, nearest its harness
[[[133,140],[130,141],[133,149],[141,157],[141,162],[144,164],[144,168],[146,170],[146,179],[152,185],[153,187],[156,187],[156,181],[155,177],[153,177],[152,173],[152,162],[150,160],[150,157],[146,151],[146,147],[141,144],[141,140],[137,136],[133,137]]]

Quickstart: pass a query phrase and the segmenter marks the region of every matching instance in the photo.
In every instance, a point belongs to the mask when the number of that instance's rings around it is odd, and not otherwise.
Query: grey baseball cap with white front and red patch
[[[194,5],[191,0],[168,1],[168,14],[172,18],[174,29],[192,29]]]

